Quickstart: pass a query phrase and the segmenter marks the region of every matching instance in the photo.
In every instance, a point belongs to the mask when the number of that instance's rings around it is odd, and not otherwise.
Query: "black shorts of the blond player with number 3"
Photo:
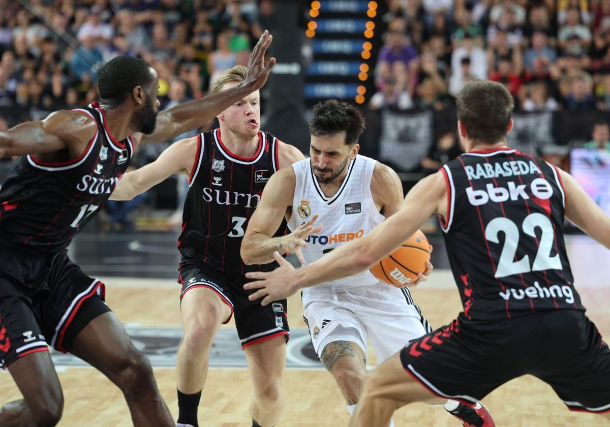
[[[275,337],[284,336],[286,342],[290,337],[286,300],[273,301],[263,307],[260,300],[250,301],[248,295],[252,290],[243,289],[250,281],[242,274],[228,274],[203,263],[183,262],[179,267],[178,282],[182,284],[180,300],[190,290],[207,288],[220,296],[231,309],[231,315],[223,323],[228,323],[235,315],[237,334],[242,342],[242,349]]]

